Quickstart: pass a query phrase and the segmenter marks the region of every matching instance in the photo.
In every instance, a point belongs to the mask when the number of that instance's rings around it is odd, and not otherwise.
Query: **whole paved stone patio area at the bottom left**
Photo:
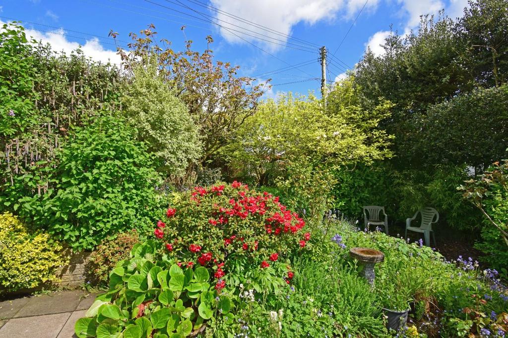
[[[96,294],[62,291],[0,302],[0,338],[71,338]]]

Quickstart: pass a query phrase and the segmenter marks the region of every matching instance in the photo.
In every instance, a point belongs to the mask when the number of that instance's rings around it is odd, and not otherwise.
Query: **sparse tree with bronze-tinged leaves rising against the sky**
[[[130,50],[120,50],[127,70],[133,71],[139,60],[156,60],[157,66],[175,95],[188,107],[190,115],[200,128],[203,153],[199,162],[210,161],[245,119],[253,115],[258,99],[263,95],[263,85],[256,79],[238,77],[238,66],[215,61],[208,47],[203,53],[192,50],[192,41],[186,41],[183,52],[175,52],[169,41],[158,44],[155,27],[149,25],[140,36],[131,33]],[[116,33],[112,33],[115,37]],[[213,42],[207,36],[208,45]]]

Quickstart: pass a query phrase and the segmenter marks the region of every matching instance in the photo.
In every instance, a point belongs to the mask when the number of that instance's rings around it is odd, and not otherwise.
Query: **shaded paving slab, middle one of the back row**
[[[80,303],[83,291],[65,291],[31,297],[13,318],[73,312]]]

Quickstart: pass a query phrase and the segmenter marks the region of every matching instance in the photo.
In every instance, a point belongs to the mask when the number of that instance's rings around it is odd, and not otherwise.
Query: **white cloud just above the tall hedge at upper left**
[[[4,23],[5,22],[0,20],[0,25]],[[84,55],[91,57],[93,60],[103,63],[107,63],[109,60],[111,63],[120,64],[120,56],[116,54],[116,51],[104,49],[97,38],[83,41],[84,43],[69,41],[67,40],[67,36],[62,35],[65,34],[65,30],[63,29],[54,30],[52,33],[49,33],[25,27],[25,34],[33,37],[33,39],[37,41],[42,41],[44,44],[49,43],[51,49],[55,52],[64,51],[69,55],[72,51],[81,46]]]

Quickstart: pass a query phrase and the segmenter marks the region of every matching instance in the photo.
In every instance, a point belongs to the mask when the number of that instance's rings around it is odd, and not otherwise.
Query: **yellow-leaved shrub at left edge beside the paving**
[[[0,294],[58,281],[55,270],[66,264],[61,251],[48,234],[30,231],[9,212],[0,214]]]

